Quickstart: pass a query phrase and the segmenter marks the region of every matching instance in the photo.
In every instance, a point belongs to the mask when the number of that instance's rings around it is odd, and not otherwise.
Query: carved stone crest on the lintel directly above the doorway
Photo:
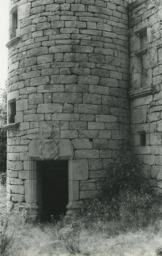
[[[59,158],[59,140],[40,140],[39,146],[40,158],[58,159]]]

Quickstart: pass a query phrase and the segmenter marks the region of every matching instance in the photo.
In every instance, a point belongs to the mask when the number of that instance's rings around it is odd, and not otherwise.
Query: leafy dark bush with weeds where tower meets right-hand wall
[[[154,195],[149,183],[140,178],[140,167],[128,146],[121,149],[110,170],[102,197],[86,201],[77,215],[86,229],[102,231],[106,227],[110,231],[114,222],[116,231],[139,229],[162,217],[162,197]]]

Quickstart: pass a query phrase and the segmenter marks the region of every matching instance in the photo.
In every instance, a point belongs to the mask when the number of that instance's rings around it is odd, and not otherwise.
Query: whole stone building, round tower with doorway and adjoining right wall
[[[108,167],[130,137],[129,103],[133,152],[143,165],[148,159],[149,172],[155,163],[150,140],[146,145],[151,131],[155,146],[162,136],[154,122],[161,114],[152,119],[161,111],[161,4],[9,1],[8,203],[18,202],[33,218],[48,208],[70,215],[106,185]]]

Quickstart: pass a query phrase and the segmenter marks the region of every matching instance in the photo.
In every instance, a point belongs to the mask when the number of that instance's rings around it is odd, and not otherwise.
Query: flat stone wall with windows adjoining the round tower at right
[[[131,144],[142,165],[142,177],[161,192],[162,3],[141,3],[129,5]]]

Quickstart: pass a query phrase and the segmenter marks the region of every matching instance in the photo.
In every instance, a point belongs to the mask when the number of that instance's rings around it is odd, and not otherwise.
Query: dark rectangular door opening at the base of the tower
[[[66,213],[68,204],[68,161],[41,161],[42,219]]]

